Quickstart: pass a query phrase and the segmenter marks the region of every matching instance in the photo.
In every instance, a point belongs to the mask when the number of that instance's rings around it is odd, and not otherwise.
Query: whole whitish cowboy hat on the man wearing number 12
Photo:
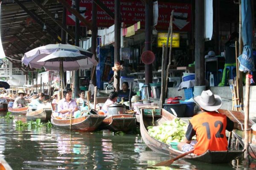
[[[217,111],[222,105],[221,97],[212,94],[210,90],[203,91],[201,96],[196,96],[193,99],[196,104],[206,111]]]

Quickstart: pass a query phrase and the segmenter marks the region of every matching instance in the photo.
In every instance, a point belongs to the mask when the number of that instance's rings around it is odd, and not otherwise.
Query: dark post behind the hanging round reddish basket
[[[145,3],[145,50],[152,50],[152,27],[153,27],[153,1]],[[151,91],[149,83],[152,83],[152,64],[145,64],[145,85],[148,85],[148,92]],[[150,93],[149,93],[150,94]]]

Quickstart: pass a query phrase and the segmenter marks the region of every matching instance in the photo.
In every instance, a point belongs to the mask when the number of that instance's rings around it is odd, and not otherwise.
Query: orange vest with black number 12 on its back
[[[227,117],[217,112],[203,112],[190,120],[196,132],[197,143],[194,153],[201,155],[207,150],[227,150]]]

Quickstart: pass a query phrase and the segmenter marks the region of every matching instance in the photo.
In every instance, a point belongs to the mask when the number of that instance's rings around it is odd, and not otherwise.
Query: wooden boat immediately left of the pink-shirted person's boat
[[[48,121],[51,119],[52,109],[40,109],[38,111],[27,111],[26,118],[28,120],[41,119],[41,121]]]

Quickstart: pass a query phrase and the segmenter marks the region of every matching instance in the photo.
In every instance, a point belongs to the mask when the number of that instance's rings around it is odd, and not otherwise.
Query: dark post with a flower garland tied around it
[[[114,47],[114,63],[120,61],[120,48],[121,48],[121,14],[120,14],[120,0],[115,0],[115,47]],[[120,71],[117,71],[114,77],[114,88],[119,91],[120,88]]]

